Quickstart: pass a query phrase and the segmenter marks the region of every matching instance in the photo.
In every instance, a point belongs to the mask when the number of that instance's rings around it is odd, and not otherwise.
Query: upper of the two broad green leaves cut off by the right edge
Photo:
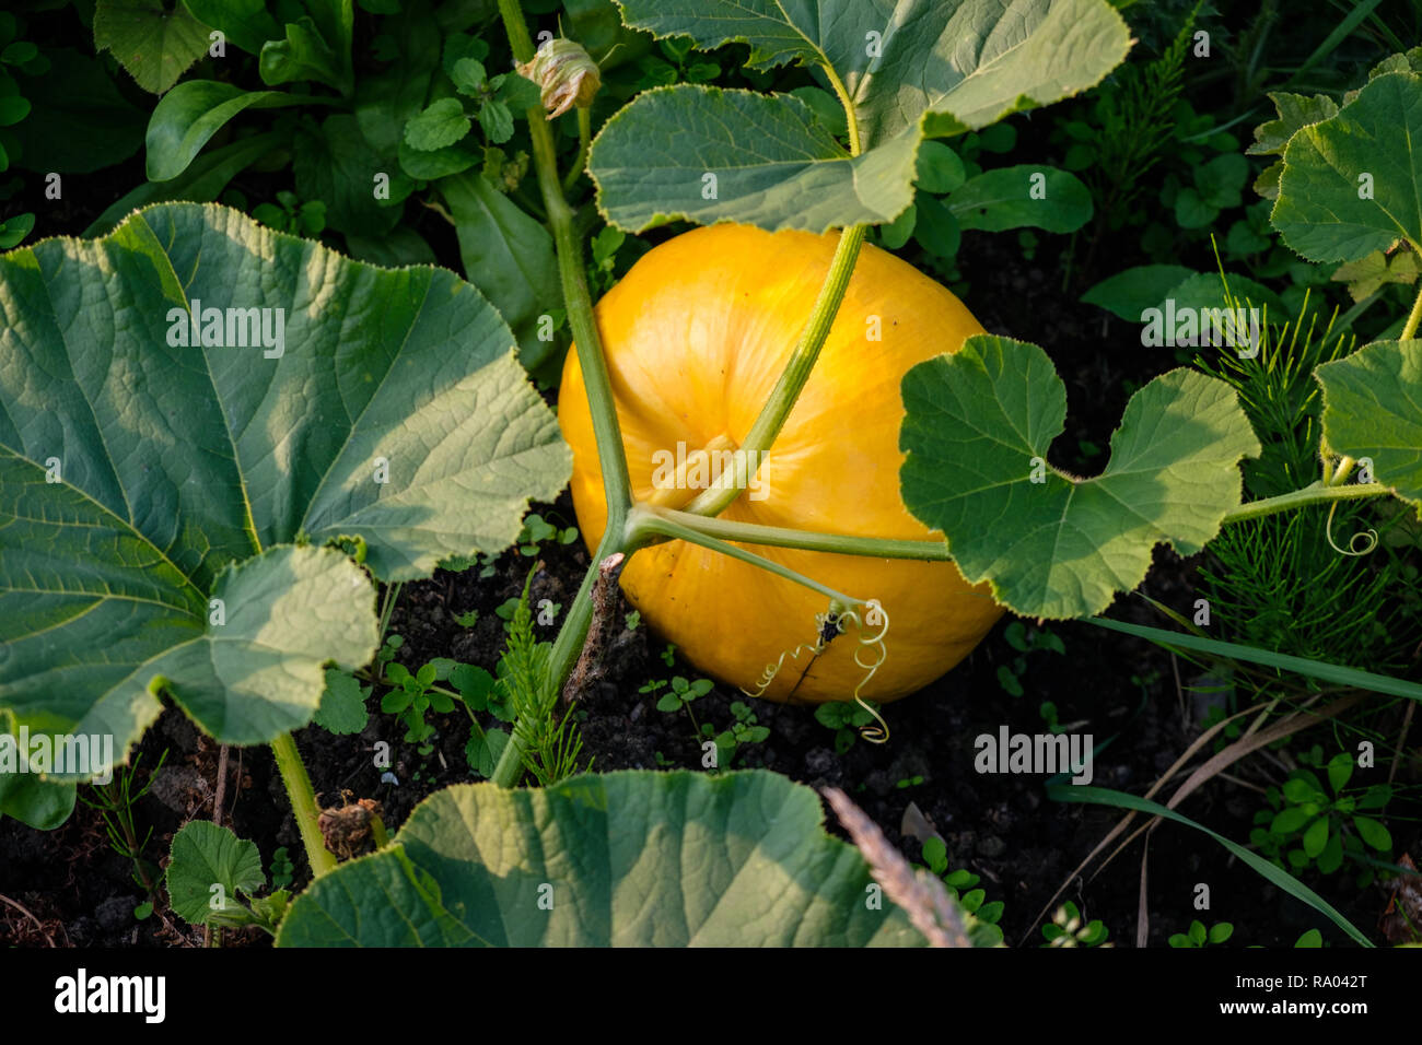
[[[1422,77],[1378,77],[1284,151],[1271,220],[1311,262],[1357,262],[1398,239],[1422,243]]]

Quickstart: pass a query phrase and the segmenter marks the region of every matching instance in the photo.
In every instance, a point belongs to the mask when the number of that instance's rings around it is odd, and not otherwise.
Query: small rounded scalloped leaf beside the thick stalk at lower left
[[[173,913],[192,926],[229,923],[232,911],[240,910],[237,896],[250,897],[266,884],[256,845],[212,820],[185,823],[173,835],[171,852],[168,900]]]

